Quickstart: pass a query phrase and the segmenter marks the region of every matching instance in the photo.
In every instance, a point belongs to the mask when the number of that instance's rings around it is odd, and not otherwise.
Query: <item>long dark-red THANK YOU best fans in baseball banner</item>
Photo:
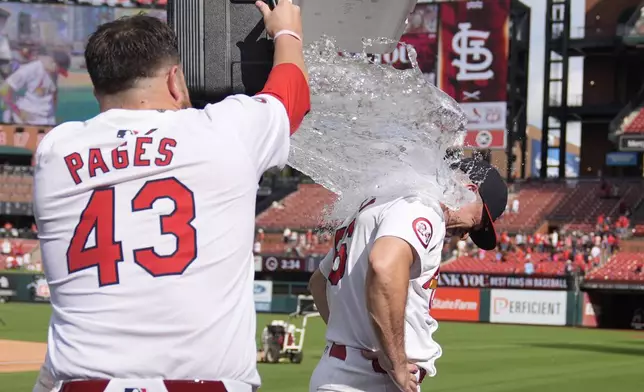
[[[441,272],[439,287],[474,287],[499,289],[567,290],[568,280],[561,276],[489,275]]]

